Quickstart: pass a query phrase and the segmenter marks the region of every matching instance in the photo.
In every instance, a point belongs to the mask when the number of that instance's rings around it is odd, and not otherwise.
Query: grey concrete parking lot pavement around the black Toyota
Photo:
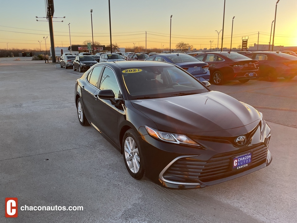
[[[170,190],[133,179],[123,156],[79,124],[81,74],[52,63],[0,63],[0,222],[296,222],[297,77],[212,85],[263,113],[273,161],[221,184]],[[18,198],[17,218],[5,217],[6,197]],[[21,211],[24,205],[84,210]]]

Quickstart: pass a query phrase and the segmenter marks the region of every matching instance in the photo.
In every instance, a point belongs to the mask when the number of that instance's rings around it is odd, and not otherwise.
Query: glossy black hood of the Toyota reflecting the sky
[[[260,120],[252,106],[217,91],[131,102],[153,120],[159,130],[168,132],[230,136],[240,134],[237,128],[251,131]],[[226,131],[228,129],[233,130]]]

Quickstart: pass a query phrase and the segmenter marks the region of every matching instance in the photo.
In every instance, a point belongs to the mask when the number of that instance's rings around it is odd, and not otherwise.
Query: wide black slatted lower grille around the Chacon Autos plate
[[[233,158],[244,153],[252,153],[252,164],[239,170],[232,170]],[[240,150],[214,155],[208,161],[197,160],[198,157],[186,157],[174,162],[163,174],[167,180],[177,182],[199,183],[219,180],[244,172],[266,162],[267,147],[257,145]]]

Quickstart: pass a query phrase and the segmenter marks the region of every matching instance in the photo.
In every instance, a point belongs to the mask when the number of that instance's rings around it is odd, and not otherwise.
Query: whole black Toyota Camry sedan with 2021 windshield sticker
[[[262,113],[206,85],[171,63],[99,63],[75,82],[78,120],[123,154],[132,177],[169,188],[210,186],[269,165]]]

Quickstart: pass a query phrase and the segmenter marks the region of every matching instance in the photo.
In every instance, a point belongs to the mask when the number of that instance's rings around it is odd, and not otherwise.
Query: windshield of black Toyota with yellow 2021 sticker
[[[196,78],[175,66],[122,69],[130,99],[163,98],[208,92]]]

